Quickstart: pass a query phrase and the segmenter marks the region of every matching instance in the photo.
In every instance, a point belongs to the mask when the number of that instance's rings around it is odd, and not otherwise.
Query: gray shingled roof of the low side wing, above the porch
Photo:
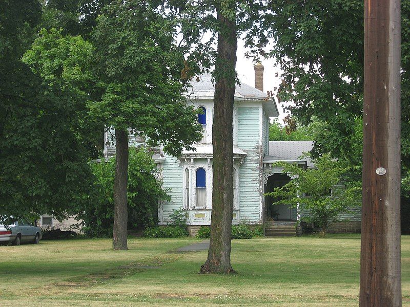
[[[303,152],[308,152],[313,147],[313,141],[269,141],[269,156],[264,159],[273,160],[302,160],[306,161],[308,167],[314,167],[309,158],[300,159]]]

